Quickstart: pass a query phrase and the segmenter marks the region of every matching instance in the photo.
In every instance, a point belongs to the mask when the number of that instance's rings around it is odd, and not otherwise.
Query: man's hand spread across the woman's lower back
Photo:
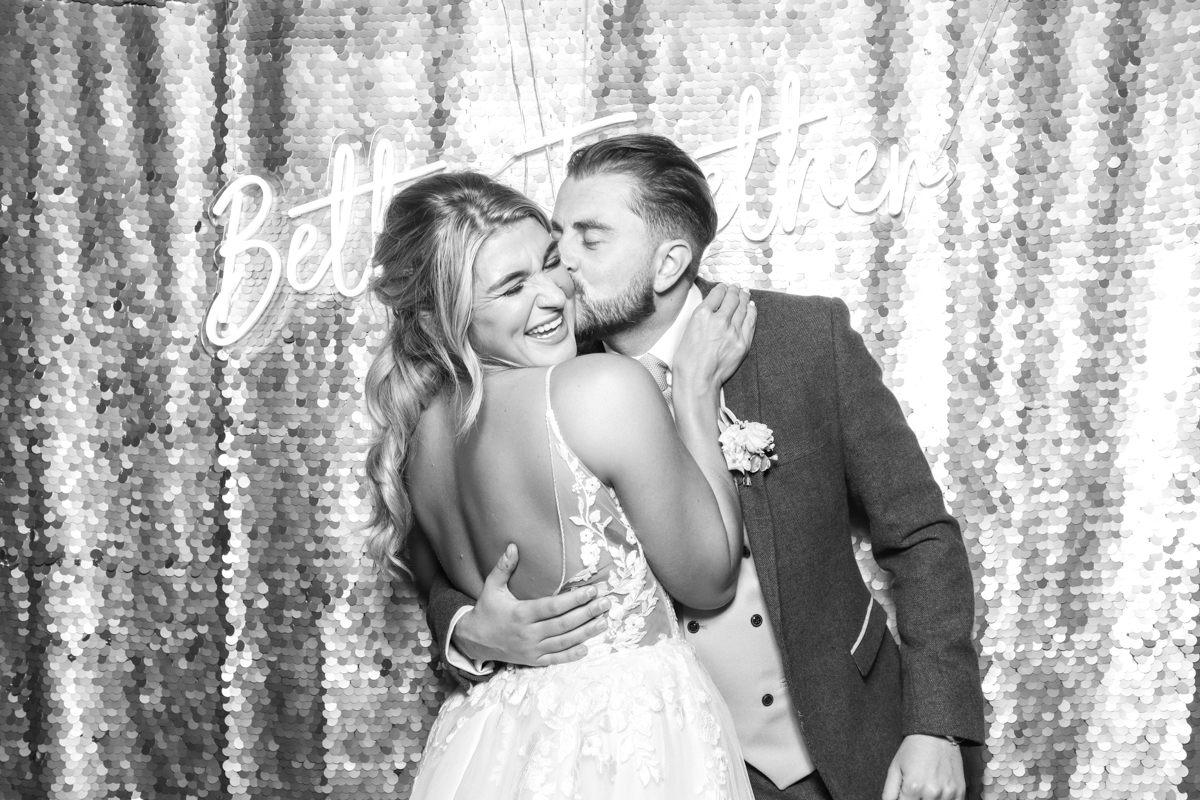
[[[468,658],[547,667],[578,661],[587,655],[584,640],[607,627],[600,616],[612,606],[596,597],[595,587],[538,600],[517,600],[509,578],[517,566],[517,546],[509,545],[487,573],[475,607],[454,630],[455,646]],[[600,616],[600,619],[595,619]]]

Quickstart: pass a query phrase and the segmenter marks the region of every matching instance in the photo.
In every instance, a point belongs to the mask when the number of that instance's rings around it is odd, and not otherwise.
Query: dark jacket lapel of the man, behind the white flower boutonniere
[[[707,291],[707,288],[706,288]],[[725,384],[725,404],[739,420],[761,421],[762,404],[758,396],[758,359],[751,344],[745,360]],[[745,525],[750,552],[754,553],[758,584],[762,587],[767,613],[775,630],[780,625],[779,576],[775,570],[775,534],[770,522],[770,504],[767,499],[766,475],[750,477],[750,485],[738,482],[742,501],[742,521]],[[782,645],[782,640],[780,640]]]

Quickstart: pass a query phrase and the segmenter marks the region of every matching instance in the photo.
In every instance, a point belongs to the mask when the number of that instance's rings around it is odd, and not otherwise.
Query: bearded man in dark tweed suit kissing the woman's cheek
[[[553,221],[581,338],[641,356],[670,395],[684,327],[712,289],[696,278],[716,233],[703,172],[662,137],[606,139],[572,155]],[[680,608],[688,640],[730,706],[760,800],[960,800],[959,747],[982,744],[984,726],[959,525],[845,303],[751,296],[754,344],[724,398],[774,431],[779,459],[739,487],[737,596]],[[852,513],[894,576],[899,646],[863,585]],[[502,559],[475,601],[442,576],[430,590],[430,626],[461,680],[480,680],[486,660],[572,661],[602,630],[594,589],[517,601],[515,565]]]

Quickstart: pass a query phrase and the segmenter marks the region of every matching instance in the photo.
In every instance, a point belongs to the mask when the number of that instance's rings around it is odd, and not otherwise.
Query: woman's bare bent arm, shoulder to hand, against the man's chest
[[[737,588],[742,506],[716,417],[721,385],[745,357],[756,319],[737,287],[714,287],[694,312],[676,354],[676,425],[632,360],[584,356],[562,369],[575,377],[574,387],[563,381],[574,397],[554,407],[565,405],[580,457],[616,489],[662,585],[692,608],[720,607]],[[588,361],[598,357],[605,361]]]

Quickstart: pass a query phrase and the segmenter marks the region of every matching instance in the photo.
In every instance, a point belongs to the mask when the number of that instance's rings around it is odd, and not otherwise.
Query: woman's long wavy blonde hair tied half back
[[[388,206],[371,284],[386,308],[388,338],[367,371],[365,395],[374,423],[367,553],[390,577],[408,571],[402,558],[413,509],[404,469],[421,411],[449,391],[462,433],[482,402],[482,366],[468,341],[475,255],[488,236],[529,218],[550,230],[532,200],[478,173],[424,178]]]

